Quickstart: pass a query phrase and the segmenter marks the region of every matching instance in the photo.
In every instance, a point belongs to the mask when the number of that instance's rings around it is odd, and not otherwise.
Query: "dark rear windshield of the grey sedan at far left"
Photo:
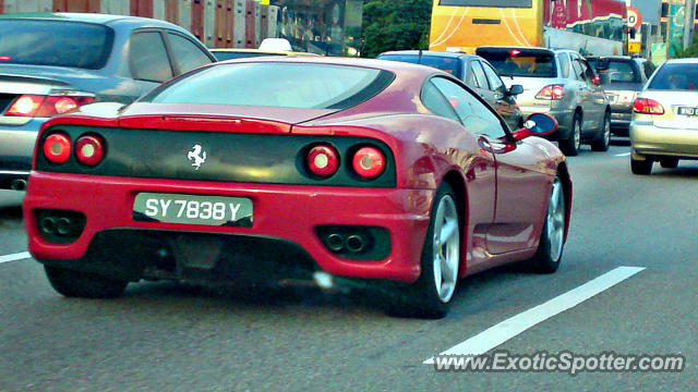
[[[0,64],[100,69],[113,32],[103,25],[53,20],[0,20]]]

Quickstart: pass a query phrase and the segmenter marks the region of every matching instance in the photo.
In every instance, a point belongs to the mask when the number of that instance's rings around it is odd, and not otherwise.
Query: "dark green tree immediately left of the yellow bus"
[[[364,0],[361,57],[429,49],[432,0]]]

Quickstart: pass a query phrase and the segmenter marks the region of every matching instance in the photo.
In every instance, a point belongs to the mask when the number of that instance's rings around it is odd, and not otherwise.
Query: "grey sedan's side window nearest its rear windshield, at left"
[[[172,77],[172,68],[160,33],[133,34],[129,50],[133,78],[161,83]]]

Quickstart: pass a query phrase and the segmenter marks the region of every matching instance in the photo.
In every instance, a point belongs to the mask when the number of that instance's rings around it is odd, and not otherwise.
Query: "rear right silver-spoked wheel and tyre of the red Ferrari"
[[[448,314],[456,292],[460,262],[460,216],[454,192],[443,183],[434,198],[422,248],[422,273],[388,301],[388,313],[399,317],[437,319]]]

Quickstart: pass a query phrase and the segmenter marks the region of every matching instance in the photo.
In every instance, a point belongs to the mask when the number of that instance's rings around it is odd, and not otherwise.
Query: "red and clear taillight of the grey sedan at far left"
[[[95,97],[85,95],[23,95],[12,103],[4,114],[16,117],[53,117],[67,113],[83,105],[92,103],[94,100]]]

